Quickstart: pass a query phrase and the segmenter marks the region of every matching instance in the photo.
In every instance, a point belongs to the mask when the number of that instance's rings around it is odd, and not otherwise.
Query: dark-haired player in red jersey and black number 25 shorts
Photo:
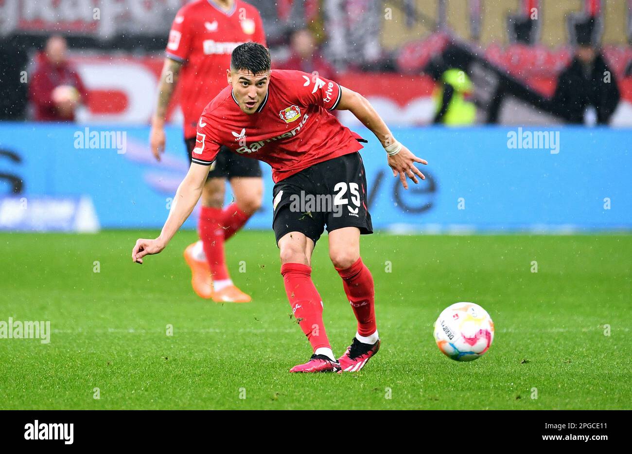
[[[154,240],[139,239],[134,262],[164,249],[191,214],[202,192],[206,169],[220,147],[270,164],[274,219],[281,251],[281,274],[292,312],[312,345],[313,355],[290,372],[360,371],[380,347],[374,309],[374,283],[360,258],[360,235],[372,233],[367,181],[358,150],[360,136],[329,113],[351,111],[384,146],[393,175],[408,188],[406,176],[425,178],[415,163],[427,164],[395,140],[379,114],[362,97],[336,82],[301,71],[270,71],[264,46],[234,49],[230,85],[204,109],[198,121],[191,167],[174,197],[169,217]],[[330,200],[314,209],[314,199]],[[312,207],[307,204],[312,201]],[[305,202],[303,204],[302,202]],[[356,335],[336,359],[322,322],[323,304],[310,267],[313,248],[325,226],[329,257],[343,279],[344,292],[358,320]]]

